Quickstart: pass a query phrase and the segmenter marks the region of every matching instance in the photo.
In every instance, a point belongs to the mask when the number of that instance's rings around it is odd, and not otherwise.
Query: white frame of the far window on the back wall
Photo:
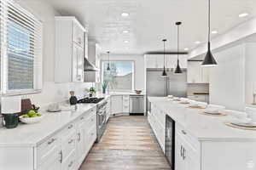
[[[108,59],[101,59],[101,82],[103,82],[103,62],[108,62]],[[131,89],[108,89],[110,92],[133,92],[135,89],[135,60],[122,60],[122,59],[109,59],[109,62],[131,62],[132,63],[132,82],[131,82]]]

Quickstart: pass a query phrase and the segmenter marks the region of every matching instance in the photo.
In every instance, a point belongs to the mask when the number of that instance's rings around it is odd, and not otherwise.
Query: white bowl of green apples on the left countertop
[[[24,122],[26,124],[32,124],[42,121],[44,118],[43,115],[38,114],[36,111],[28,111],[26,115],[20,116],[20,122]]]

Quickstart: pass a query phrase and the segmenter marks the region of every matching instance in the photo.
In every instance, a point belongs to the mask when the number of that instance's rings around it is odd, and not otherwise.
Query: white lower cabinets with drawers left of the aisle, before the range
[[[96,108],[84,113],[35,148],[35,169],[78,170],[95,141]]]

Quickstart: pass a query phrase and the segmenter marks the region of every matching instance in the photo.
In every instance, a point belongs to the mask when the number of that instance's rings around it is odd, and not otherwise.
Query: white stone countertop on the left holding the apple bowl
[[[41,122],[35,124],[19,124],[18,127],[0,128],[0,147],[34,147],[44,142],[51,135],[59,132],[68,123],[73,122],[86,111],[96,107],[96,104],[79,104],[76,111],[61,111],[49,113],[40,111],[44,115]],[[66,108],[70,108],[67,106]]]

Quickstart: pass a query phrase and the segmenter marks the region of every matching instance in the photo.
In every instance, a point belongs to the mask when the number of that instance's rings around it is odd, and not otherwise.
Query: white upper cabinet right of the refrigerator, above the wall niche
[[[201,66],[201,62],[188,62],[188,83],[209,83],[209,68]]]

